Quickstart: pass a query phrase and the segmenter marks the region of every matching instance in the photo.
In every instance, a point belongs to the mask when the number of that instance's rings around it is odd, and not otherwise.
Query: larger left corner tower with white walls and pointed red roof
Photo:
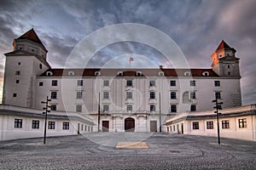
[[[15,39],[13,47],[5,54],[3,104],[35,107],[37,77],[50,68],[48,51],[33,29]]]

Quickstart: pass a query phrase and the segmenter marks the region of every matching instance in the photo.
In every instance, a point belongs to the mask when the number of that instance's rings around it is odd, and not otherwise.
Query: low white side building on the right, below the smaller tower
[[[256,141],[256,105],[244,105],[221,110],[221,138]],[[166,121],[167,132],[218,136],[217,116],[212,111],[191,111],[177,114]]]

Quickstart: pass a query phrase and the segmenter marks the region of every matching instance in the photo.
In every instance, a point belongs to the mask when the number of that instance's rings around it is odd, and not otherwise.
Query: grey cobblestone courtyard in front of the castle
[[[148,148],[116,148],[139,142]],[[0,169],[255,169],[256,143],[166,133],[90,133],[0,142]]]

